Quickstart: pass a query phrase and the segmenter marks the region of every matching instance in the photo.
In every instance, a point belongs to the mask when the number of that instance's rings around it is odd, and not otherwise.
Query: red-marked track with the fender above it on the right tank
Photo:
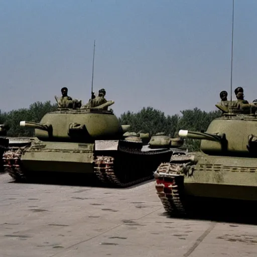
[[[184,176],[191,176],[196,161],[193,155],[172,156],[170,163],[162,163],[154,173],[155,188],[169,216],[188,215],[184,195]]]

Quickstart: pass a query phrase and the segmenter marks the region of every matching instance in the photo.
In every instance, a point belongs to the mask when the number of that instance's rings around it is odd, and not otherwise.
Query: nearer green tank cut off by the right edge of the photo
[[[157,194],[168,214],[187,215],[202,200],[211,204],[257,202],[257,106],[227,101],[206,132],[180,130],[201,140],[200,152],[173,155],[154,176]]]

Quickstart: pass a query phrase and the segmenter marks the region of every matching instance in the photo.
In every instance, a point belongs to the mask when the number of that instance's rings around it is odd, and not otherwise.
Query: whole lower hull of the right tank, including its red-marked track
[[[257,158],[174,156],[158,167],[155,178],[157,194],[172,216],[194,213],[198,199],[257,203]]]

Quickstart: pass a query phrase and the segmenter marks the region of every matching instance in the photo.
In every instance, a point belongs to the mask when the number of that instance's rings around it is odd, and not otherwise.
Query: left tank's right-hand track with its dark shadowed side
[[[153,179],[159,163],[169,161],[173,153],[170,149],[141,151],[141,145],[134,145],[135,142],[121,142],[114,156],[108,156],[108,151],[99,151],[94,160],[94,173],[98,180],[118,187],[142,183]]]

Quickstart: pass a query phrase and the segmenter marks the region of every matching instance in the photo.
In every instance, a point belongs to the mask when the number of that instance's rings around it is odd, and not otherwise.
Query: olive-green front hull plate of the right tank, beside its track
[[[184,185],[186,195],[257,201],[257,159],[203,156]]]

